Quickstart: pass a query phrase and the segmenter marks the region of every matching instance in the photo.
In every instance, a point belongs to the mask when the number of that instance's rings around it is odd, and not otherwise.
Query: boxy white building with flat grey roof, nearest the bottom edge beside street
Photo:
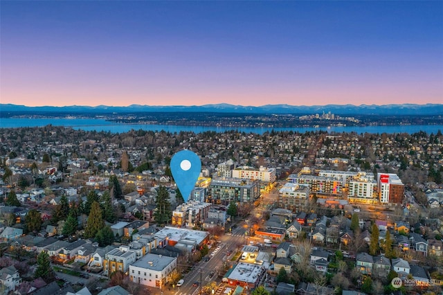
[[[129,265],[129,280],[161,289],[172,281],[176,269],[177,258],[148,253]]]

